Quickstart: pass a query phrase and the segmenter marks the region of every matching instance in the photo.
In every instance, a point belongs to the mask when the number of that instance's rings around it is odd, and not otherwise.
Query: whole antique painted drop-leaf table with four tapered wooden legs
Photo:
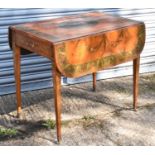
[[[145,43],[143,22],[100,12],[26,23],[9,28],[14,51],[17,114],[21,113],[20,55],[25,50],[53,62],[57,140],[61,140],[61,75],[80,77],[133,60],[133,105],[137,108],[140,53]]]

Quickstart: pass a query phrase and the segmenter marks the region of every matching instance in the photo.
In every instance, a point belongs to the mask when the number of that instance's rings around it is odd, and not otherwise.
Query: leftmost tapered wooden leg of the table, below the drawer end
[[[14,54],[14,74],[16,83],[16,97],[17,97],[17,117],[21,113],[21,79],[20,79],[20,53],[21,49],[17,45],[13,45]]]

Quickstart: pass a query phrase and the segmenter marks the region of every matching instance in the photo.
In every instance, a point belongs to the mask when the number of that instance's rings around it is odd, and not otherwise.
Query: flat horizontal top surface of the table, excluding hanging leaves
[[[81,38],[140,22],[101,12],[89,12],[56,19],[32,22],[14,26],[16,30],[31,33],[52,43]]]

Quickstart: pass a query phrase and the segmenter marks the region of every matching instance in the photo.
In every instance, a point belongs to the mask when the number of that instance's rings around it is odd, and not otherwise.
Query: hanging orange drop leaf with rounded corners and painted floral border
[[[79,77],[132,60],[145,43],[145,25],[66,41],[56,46],[56,64],[67,77]]]

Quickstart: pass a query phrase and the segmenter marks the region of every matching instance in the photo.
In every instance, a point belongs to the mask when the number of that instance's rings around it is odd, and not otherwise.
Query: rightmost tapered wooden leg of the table
[[[133,107],[137,109],[140,56],[133,60]]]

